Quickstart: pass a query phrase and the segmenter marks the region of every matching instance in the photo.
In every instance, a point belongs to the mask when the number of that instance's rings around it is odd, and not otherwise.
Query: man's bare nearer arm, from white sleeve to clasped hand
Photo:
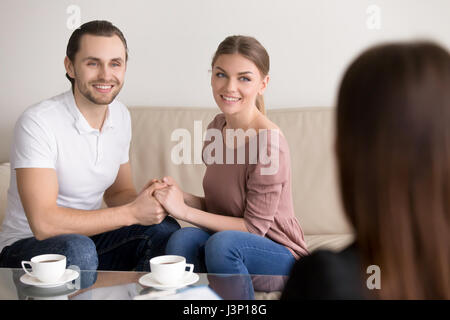
[[[100,210],[58,207],[58,179],[54,169],[16,169],[17,188],[30,228],[38,240],[61,234],[91,236],[133,224],[152,225],[166,217],[152,196],[158,184],[129,204]],[[113,197],[114,198],[114,197]]]

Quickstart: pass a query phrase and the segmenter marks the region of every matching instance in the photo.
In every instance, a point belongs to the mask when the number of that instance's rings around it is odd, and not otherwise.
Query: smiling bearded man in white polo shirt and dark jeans
[[[0,267],[59,253],[82,270],[149,270],[178,223],[137,194],[128,151],[130,114],[114,100],[127,44],[108,21],[75,30],[64,60],[72,90],[28,108],[15,126]],[[108,208],[100,209],[102,199]]]

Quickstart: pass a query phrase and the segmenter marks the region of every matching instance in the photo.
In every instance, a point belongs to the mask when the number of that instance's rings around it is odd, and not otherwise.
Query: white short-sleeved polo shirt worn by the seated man
[[[101,131],[88,124],[72,91],[29,107],[14,128],[0,252],[17,240],[33,236],[17,190],[16,168],[55,169],[57,205],[96,210],[101,207],[103,193],[114,183],[120,165],[128,162],[130,141],[130,113],[118,101],[108,106]]]

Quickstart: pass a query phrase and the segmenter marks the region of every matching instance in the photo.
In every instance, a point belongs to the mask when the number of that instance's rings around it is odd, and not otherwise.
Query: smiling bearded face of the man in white
[[[75,97],[108,105],[119,94],[126,71],[125,46],[112,37],[85,34],[74,61],[65,59],[68,75],[75,80]]]

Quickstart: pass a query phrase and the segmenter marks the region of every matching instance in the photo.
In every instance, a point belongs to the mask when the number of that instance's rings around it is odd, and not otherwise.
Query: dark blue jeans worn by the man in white
[[[149,271],[149,259],[164,254],[167,241],[180,228],[166,217],[151,226],[132,225],[92,237],[65,234],[42,241],[34,237],[5,247],[0,253],[0,267],[21,268],[22,260],[58,253],[67,257],[67,265],[81,270]]]

